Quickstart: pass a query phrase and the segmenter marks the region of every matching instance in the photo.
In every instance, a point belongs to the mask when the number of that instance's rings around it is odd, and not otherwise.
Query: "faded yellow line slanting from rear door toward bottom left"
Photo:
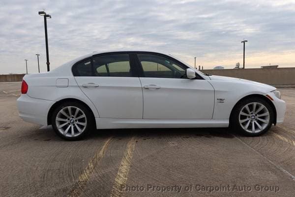
[[[95,167],[99,164],[100,160],[103,158],[107,147],[109,146],[112,137],[109,137],[102,148],[96,152],[94,157],[89,161],[87,167],[83,170],[83,173],[79,175],[78,181],[73,187],[73,189],[67,195],[68,197],[80,197],[82,191],[85,189],[87,182],[89,181],[91,175],[94,172]]]

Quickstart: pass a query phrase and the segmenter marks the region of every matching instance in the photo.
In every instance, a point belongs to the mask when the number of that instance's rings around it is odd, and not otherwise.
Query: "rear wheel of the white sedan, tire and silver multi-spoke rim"
[[[78,140],[89,133],[92,125],[91,113],[77,102],[64,102],[53,112],[52,125],[56,133],[67,140]]]

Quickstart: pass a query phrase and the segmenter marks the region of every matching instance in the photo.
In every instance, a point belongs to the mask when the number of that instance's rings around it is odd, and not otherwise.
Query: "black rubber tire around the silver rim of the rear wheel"
[[[83,132],[79,133],[78,130],[77,130],[77,127],[74,126],[76,123],[74,122],[73,124],[71,123],[68,123],[68,125],[65,125],[64,127],[67,127],[67,126],[71,126],[73,125],[73,127],[75,128],[75,131],[77,133],[77,136],[67,136],[67,135],[64,135],[61,133],[61,131],[59,131],[58,129],[58,126],[57,126],[57,122],[56,122],[56,118],[57,118],[57,115],[59,113],[59,111],[61,109],[65,109],[65,107],[77,107],[79,108],[84,114],[85,114],[85,119],[83,118],[84,121],[86,121],[86,126],[85,126],[85,129],[83,130]],[[72,110],[71,110],[72,111]],[[79,111],[79,113],[82,113]],[[68,114],[68,113],[67,113]],[[90,112],[90,110],[84,105],[84,104],[81,104],[79,102],[75,102],[75,101],[66,101],[66,102],[63,102],[61,104],[59,104],[53,111],[52,113],[52,117],[51,117],[51,122],[52,122],[52,127],[54,129],[54,131],[59,135],[59,137],[63,138],[63,139],[66,139],[66,140],[79,140],[79,139],[82,139],[84,138],[85,136],[87,136],[89,134],[89,132],[91,131],[91,129],[93,128],[93,125],[94,125],[94,118],[93,118],[93,115],[92,113]],[[71,130],[72,127],[70,127],[69,130]]]

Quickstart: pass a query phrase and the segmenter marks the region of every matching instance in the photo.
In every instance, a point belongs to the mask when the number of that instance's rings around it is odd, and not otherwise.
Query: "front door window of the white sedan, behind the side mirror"
[[[153,54],[138,54],[145,77],[186,78],[186,67],[175,61]]]

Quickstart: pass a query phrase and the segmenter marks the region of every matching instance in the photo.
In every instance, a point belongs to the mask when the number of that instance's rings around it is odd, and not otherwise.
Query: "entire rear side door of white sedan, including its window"
[[[100,118],[142,119],[142,87],[128,53],[93,56],[74,65],[73,73]]]

